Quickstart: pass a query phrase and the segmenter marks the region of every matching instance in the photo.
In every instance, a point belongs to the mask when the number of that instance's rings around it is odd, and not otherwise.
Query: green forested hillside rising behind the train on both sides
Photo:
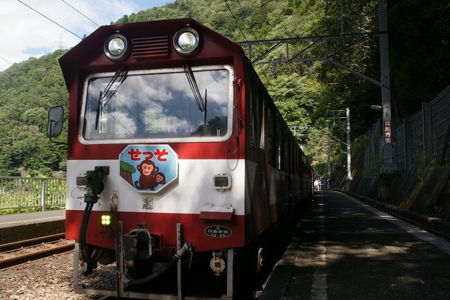
[[[343,33],[378,31],[376,0],[344,0]],[[420,108],[450,83],[450,3],[440,0],[388,1],[390,84],[394,121]],[[132,15],[115,23],[192,17],[236,42],[339,35],[339,1],[323,0],[184,0]],[[323,55],[354,71],[379,80],[378,37],[333,39],[318,43],[301,54],[309,62],[256,66],[280,112],[289,125],[312,125],[300,143],[325,143],[328,111],[350,107],[352,137],[369,127],[381,105],[379,87],[334,65],[314,61]],[[309,46],[303,42],[289,48],[289,58]],[[348,48],[346,48],[348,46]],[[269,46],[255,48],[253,58]],[[51,175],[64,170],[65,148],[45,137],[46,110],[67,103],[67,91],[56,51],[31,58],[0,72],[0,175]],[[286,58],[284,48],[264,60]],[[334,134],[343,139],[342,127]],[[61,139],[64,139],[63,137]],[[340,146],[334,147],[335,154]],[[306,147],[314,163],[325,161],[324,148]]]

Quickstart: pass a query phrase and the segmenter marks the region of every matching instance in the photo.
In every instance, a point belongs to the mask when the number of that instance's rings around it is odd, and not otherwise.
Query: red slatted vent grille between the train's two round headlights
[[[133,58],[146,60],[169,55],[169,37],[140,37],[133,39]]]

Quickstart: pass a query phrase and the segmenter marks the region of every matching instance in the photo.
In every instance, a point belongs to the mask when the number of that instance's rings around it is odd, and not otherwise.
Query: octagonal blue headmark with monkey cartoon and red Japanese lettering
[[[178,156],[169,145],[129,145],[119,160],[120,177],[142,193],[157,193],[178,177]]]

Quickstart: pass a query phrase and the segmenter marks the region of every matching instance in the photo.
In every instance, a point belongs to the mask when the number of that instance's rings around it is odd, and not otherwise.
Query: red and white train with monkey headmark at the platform
[[[150,21],[102,26],[60,66],[75,290],[197,299],[183,279],[192,256],[192,270],[224,278],[217,299],[233,299],[235,270],[257,272],[266,233],[312,195],[307,158],[242,48],[193,19]],[[62,116],[49,110],[49,137]],[[114,262],[115,290],[79,283]],[[175,292],[143,291],[172,265]]]

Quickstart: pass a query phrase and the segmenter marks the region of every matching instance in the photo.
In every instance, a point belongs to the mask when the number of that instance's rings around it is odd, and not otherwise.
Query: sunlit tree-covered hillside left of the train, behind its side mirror
[[[67,107],[57,63],[64,53],[30,58],[0,73],[0,175],[51,176],[65,166],[65,148],[45,133],[48,108]]]

